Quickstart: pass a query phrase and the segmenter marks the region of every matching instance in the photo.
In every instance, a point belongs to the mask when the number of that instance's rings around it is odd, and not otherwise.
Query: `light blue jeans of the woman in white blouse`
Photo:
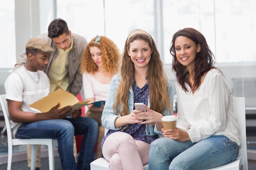
[[[148,170],[205,170],[235,161],[238,153],[239,146],[223,135],[197,143],[162,137],[150,144]]]

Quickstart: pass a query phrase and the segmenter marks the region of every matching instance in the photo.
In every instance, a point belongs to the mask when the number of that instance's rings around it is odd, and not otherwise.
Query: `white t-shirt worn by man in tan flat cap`
[[[21,110],[32,113],[40,111],[29,105],[48,95],[49,86],[49,79],[43,71],[27,71],[25,66],[17,68],[4,83],[6,99],[22,102]],[[10,120],[10,125],[14,137],[21,123]]]

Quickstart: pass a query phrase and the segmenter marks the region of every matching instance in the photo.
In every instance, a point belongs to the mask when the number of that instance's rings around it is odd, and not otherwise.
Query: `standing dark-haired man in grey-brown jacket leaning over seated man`
[[[43,70],[49,77],[50,92],[61,88],[77,96],[80,93],[83,79],[80,63],[87,41],[81,35],[71,33],[65,20],[58,18],[52,20],[48,26],[48,33],[37,36],[46,40],[53,49],[49,56],[49,64]],[[25,51],[19,56],[13,70],[24,65],[27,60]],[[28,152],[31,146],[28,146]],[[76,158],[76,141],[74,140],[74,155]],[[36,170],[40,170],[40,146],[37,149]],[[30,167],[31,155],[27,155]]]

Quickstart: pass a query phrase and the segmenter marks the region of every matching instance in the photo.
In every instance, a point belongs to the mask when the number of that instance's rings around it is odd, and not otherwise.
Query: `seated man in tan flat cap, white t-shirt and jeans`
[[[72,107],[59,108],[58,101],[56,106],[43,114],[29,107],[50,93],[49,78],[43,70],[48,65],[52,51],[46,40],[29,39],[26,44],[27,61],[13,71],[4,83],[12,135],[18,139],[57,139],[62,169],[86,170],[93,160],[98,137],[97,121],[81,117],[81,109],[74,110],[71,116],[65,117]],[[81,152],[77,165],[73,155],[74,135],[83,135],[83,139],[87,140],[82,141],[81,148],[92,148],[92,153],[86,153],[89,157]],[[85,146],[87,144],[90,146]]]

